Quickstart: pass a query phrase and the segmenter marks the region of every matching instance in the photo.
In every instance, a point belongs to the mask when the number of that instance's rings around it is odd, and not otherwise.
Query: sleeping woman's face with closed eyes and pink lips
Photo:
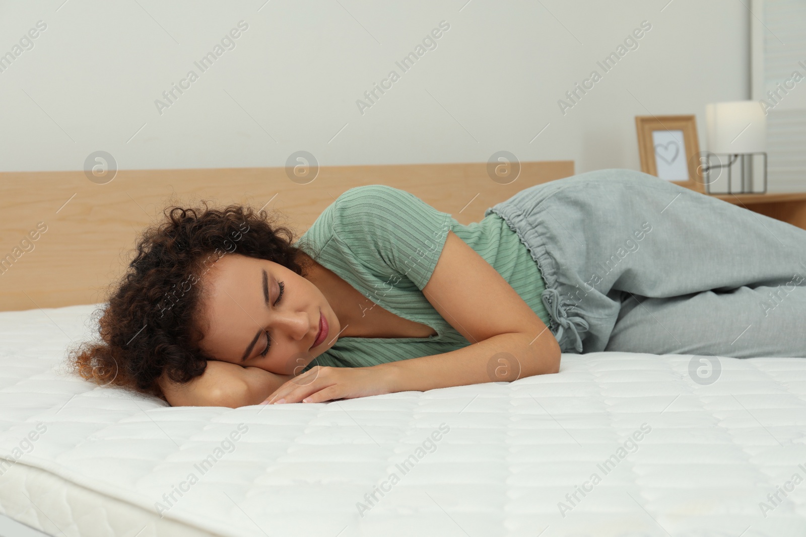
[[[199,346],[217,360],[299,374],[334,345],[341,330],[318,287],[276,262],[226,254],[203,279]],[[326,322],[321,342],[320,314]]]

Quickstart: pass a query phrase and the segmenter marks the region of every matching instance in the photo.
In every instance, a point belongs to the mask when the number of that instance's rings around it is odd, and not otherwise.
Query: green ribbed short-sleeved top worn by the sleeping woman
[[[492,213],[480,222],[463,225],[409,192],[370,184],[339,196],[297,246],[373,303],[404,319],[426,324],[437,335],[339,337],[305,370],[313,366],[375,366],[470,345],[422,294],[449,229],[495,268],[549,325],[541,300],[546,287],[538,265],[501,217]]]

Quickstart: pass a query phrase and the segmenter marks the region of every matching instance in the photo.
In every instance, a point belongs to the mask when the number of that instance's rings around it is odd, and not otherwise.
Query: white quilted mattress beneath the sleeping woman
[[[28,451],[0,513],[49,535],[806,535],[803,359],[721,358],[703,385],[690,355],[565,354],[512,383],[172,408],[60,372],[92,310],[0,313],[0,454]]]

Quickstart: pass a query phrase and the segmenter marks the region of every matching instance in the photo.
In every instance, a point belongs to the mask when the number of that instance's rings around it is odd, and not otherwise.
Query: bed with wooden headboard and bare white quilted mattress
[[[171,192],[282,200],[303,231],[331,197],[384,183],[467,223],[570,164],[522,163],[508,185],[484,163],[322,168],[308,190],[268,168],[0,174],[2,229],[49,226],[0,278],[0,535],[806,535],[798,358],[567,353],[511,383],[238,409],[64,366]]]

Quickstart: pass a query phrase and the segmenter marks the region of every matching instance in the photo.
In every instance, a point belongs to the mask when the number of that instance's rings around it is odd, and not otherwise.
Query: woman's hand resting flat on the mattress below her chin
[[[372,367],[314,366],[277,388],[260,404],[322,403],[330,399],[353,399],[390,394],[392,370]]]

